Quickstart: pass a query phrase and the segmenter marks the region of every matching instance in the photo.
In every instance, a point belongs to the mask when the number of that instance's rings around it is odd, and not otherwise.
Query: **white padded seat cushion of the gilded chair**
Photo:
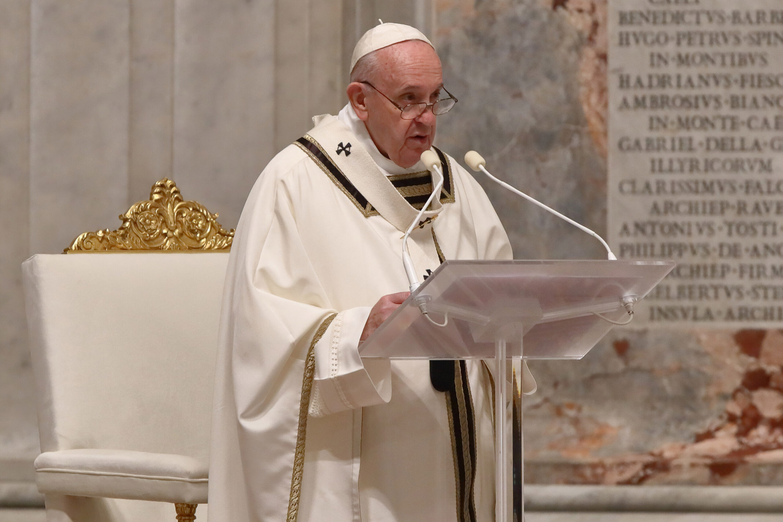
[[[35,459],[45,494],[205,504],[208,473],[193,457],[128,450],[69,449]]]

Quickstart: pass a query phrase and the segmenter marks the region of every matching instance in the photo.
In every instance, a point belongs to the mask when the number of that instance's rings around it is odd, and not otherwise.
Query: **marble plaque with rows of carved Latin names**
[[[783,2],[610,0],[608,239],[637,326],[783,324]]]

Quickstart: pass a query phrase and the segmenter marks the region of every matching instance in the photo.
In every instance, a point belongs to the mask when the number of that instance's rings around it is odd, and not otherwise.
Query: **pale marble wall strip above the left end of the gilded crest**
[[[128,202],[128,0],[34,0],[30,241],[62,251]]]

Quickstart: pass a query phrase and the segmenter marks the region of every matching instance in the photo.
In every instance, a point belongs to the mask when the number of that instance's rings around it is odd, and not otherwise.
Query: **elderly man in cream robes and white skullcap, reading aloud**
[[[363,360],[358,349],[408,296],[402,234],[432,190],[420,156],[456,99],[413,27],[375,27],[352,61],[350,103],[269,163],[236,230],[213,522],[494,520],[488,366]],[[433,149],[442,193],[409,240],[420,279],[444,259],[510,259],[485,193]]]

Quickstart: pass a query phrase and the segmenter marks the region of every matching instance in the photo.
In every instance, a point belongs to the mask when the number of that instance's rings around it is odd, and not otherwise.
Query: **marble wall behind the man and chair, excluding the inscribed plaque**
[[[344,103],[353,45],[379,17],[438,47],[460,99],[440,146],[477,149],[490,171],[604,232],[605,13],[606,0],[0,2],[0,461],[38,452],[21,261],[113,228],[164,176],[236,225],[265,162]],[[480,181],[517,257],[603,257]],[[528,479],[772,484],[781,364],[777,330],[631,328],[583,361],[533,364]]]

